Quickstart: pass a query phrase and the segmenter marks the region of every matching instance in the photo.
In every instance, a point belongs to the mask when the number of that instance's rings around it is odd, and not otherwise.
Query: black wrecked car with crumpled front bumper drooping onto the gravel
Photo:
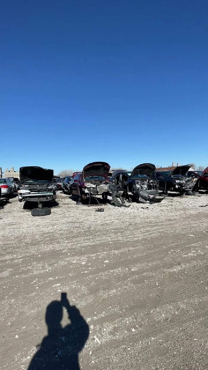
[[[154,170],[154,164],[142,163],[133,169],[131,176],[126,171],[113,171],[112,179],[117,190],[123,192],[123,198],[128,199],[131,193],[140,203],[161,202],[165,196],[160,195],[157,188],[158,182],[151,178]]]

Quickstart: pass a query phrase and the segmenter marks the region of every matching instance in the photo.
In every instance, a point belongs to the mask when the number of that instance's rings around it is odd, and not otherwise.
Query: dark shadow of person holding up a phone
[[[70,324],[61,326],[63,307]],[[78,354],[89,336],[89,326],[76,306],[71,306],[66,293],[60,301],[51,302],[45,316],[48,335],[43,338],[27,370],[80,370]]]

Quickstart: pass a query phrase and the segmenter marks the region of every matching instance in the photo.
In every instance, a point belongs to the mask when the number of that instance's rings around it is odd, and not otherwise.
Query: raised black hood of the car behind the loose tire
[[[20,167],[20,184],[34,180],[53,182],[53,169],[38,166]]]

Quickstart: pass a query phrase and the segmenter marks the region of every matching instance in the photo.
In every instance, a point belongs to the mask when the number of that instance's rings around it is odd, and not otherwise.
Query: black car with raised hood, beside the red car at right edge
[[[173,171],[156,171],[152,178],[158,181],[158,189],[164,194],[168,194],[168,191],[189,194],[197,181],[197,178],[187,176],[190,167],[185,165],[177,166]]]

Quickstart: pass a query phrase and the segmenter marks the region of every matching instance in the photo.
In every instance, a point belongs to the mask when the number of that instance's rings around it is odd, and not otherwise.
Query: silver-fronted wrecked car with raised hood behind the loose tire
[[[56,199],[57,186],[53,182],[53,170],[38,166],[20,167],[20,189],[17,191],[19,202],[53,201]]]

